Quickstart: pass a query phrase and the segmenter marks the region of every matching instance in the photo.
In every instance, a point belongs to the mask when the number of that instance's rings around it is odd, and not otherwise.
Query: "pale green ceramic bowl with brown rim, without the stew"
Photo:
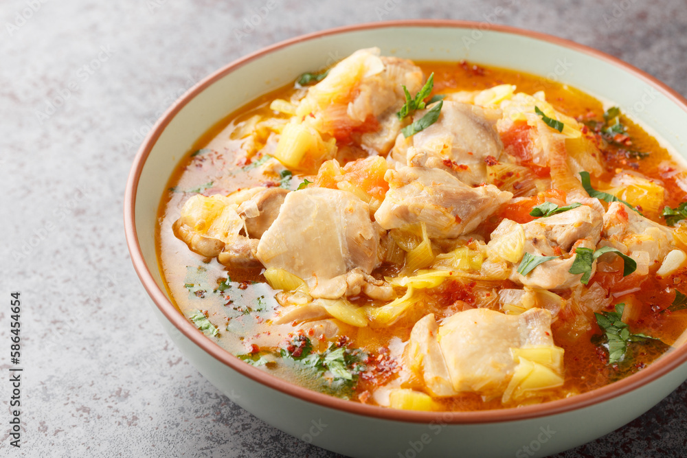
[[[306,442],[353,457],[545,456],[630,422],[687,379],[687,346],[613,385],[545,404],[482,412],[395,411],[291,385],[247,365],[196,330],[172,306],[155,256],[157,206],[194,141],[259,95],[356,49],[414,60],[470,60],[546,76],[620,106],[687,157],[687,102],[646,73],[553,36],[487,23],[401,21],[343,27],[278,43],[205,78],[159,119],[126,187],[124,218],[134,267],[155,314],[188,360],[230,399]]]

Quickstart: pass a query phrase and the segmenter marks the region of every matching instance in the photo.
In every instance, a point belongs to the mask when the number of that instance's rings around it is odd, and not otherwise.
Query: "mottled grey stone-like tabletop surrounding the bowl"
[[[14,290],[24,371],[19,449],[8,435],[10,383],[0,383],[0,456],[334,456],[264,424],[196,372],[155,321],[126,251],[124,184],[142,135],[227,62],[339,25],[490,19],[596,47],[687,95],[682,1],[432,3],[273,0],[244,30],[267,1],[2,0],[1,379],[12,366]],[[684,384],[628,426],[559,456],[685,456],[686,404]]]

